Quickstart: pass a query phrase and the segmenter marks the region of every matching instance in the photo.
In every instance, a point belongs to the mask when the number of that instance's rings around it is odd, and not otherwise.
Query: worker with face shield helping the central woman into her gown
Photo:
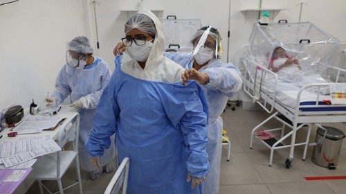
[[[199,44],[207,27],[203,27],[193,35],[191,43],[194,48]],[[199,51],[192,53],[163,53],[167,58],[181,64],[186,70],[183,74],[183,82],[192,79],[199,82],[206,93],[209,106],[208,119],[208,161],[210,170],[204,182],[204,193],[213,194],[219,192],[219,176],[221,163],[221,136],[223,121],[221,113],[224,111],[228,98],[237,94],[242,88],[242,79],[239,69],[232,63],[224,63],[221,57],[221,35],[215,28],[208,30],[208,37],[201,42]],[[114,48],[114,55],[121,55],[126,47],[119,43]]]

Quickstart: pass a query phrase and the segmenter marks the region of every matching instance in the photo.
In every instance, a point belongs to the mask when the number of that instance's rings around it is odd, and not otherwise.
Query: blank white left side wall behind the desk
[[[44,105],[66,62],[66,42],[86,35],[83,0],[21,0],[0,6],[0,109]],[[1,1],[3,3],[5,1]]]

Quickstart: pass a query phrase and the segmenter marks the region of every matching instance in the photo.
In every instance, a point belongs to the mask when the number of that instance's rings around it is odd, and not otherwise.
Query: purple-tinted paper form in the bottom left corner
[[[31,170],[32,168],[25,170],[0,170],[0,193],[8,194],[15,192],[16,188],[24,181]]]

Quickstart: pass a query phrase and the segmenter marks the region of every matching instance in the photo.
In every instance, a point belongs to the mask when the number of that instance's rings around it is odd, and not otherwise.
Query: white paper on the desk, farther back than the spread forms
[[[42,130],[54,128],[60,120],[60,117],[55,116],[28,116],[15,127],[15,131],[18,134],[39,133]]]

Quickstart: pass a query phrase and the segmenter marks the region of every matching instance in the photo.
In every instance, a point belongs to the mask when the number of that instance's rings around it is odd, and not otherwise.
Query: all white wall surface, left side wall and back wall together
[[[5,0],[1,0],[3,3]],[[7,1],[7,0],[6,0]],[[95,24],[91,0],[21,0],[0,6],[0,108],[10,103],[27,107],[35,98],[43,105],[47,91],[53,91],[55,78],[65,62],[66,42],[77,35],[91,39],[95,55],[113,69],[113,46],[124,36],[128,15],[120,10],[135,10],[140,0],[98,0],[100,49],[95,46]],[[263,8],[286,8],[275,21],[298,21],[300,2],[307,3],[302,21],[312,21],[327,33],[346,43],[346,1],[343,0],[263,0]],[[230,3],[230,49],[227,51],[228,8]],[[163,10],[160,17],[176,15],[181,19],[202,19],[204,25],[218,28],[223,35],[224,56],[237,65],[239,49],[248,37],[257,14],[245,18],[244,8],[258,8],[260,0],[143,0],[146,8]],[[343,48],[346,48],[343,46]],[[336,62],[343,56],[336,53]],[[338,66],[342,66],[341,64]],[[346,67],[346,65],[344,64]]]

